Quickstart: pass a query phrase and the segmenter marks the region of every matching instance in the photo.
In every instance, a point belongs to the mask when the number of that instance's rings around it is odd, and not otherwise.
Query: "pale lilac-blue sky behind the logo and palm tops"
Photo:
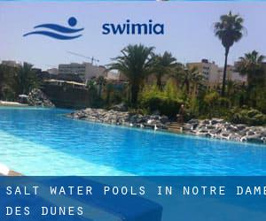
[[[46,70],[70,62],[88,62],[96,57],[98,65],[107,65],[122,48],[143,43],[154,46],[156,53],[168,50],[177,61],[197,62],[202,58],[223,65],[224,49],[213,27],[220,15],[232,11],[244,18],[246,34],[235,43],[229,55],[233,64],[246,52],[258,50],[266,55],[266,2],[0,2],[0,60],[26,61]],[[67,27],[67,19],[78,19],[75,28],[83,27],[82,37],[60,41],[42,35],[23,34],[43,23]],[[163,23],[163,35],[104,35],[104,23]]]

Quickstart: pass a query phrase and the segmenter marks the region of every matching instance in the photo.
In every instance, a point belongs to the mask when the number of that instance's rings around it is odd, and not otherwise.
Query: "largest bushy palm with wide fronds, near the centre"
[[[129,45],[121,50],[121,56],[113,58],[109,70],[122,72],[129,80],[130,102],[137,104],[137,95],[145,78],[153,69],[153,47],[142,44]]]

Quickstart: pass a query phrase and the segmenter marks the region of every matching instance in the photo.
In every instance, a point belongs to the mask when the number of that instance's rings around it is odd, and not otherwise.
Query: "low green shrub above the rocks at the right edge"
[[[266,115],[255,109],[233,109],[229,120],[235,124],[262,126],[266,124]]]

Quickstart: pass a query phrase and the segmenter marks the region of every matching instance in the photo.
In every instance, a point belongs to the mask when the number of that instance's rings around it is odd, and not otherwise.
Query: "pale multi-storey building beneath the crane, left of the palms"
[[[83,62],[71,63],[67,65],[59,65],[59,74],[77,74],[79,77],[86,81],[92,78],[98,78],[98,76],[106,77],[106,68],[104,66],[96,66],[91,63]]]

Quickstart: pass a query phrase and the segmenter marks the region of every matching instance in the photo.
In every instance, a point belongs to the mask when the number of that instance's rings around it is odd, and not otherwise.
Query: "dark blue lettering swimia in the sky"
[[[129,19],[123,24],[106,23],[102,26],[102,34],[164,34],[164,24],[153,23],[131,23]]]

